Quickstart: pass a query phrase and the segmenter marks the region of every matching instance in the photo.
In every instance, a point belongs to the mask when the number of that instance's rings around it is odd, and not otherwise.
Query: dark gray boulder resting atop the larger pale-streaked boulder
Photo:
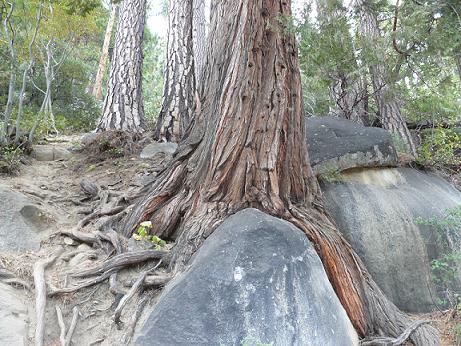
[[[334,117],[311,117],[306,121],[306,134],[316,172],[398,164],[392,138],[384,129]]]

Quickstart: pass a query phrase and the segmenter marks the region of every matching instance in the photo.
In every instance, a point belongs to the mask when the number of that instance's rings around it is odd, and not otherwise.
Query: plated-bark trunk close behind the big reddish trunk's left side
[[[192,117],[195,71],[192,34],[193,0],[170,0],[163,103],[156,138],[178,141]]]

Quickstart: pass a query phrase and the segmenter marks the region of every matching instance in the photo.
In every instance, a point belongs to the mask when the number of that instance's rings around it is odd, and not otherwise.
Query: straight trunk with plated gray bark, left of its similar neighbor
[[[104,111],[98,131],[145,129],[142,96],[142,41],[147,0],[123,0]]]

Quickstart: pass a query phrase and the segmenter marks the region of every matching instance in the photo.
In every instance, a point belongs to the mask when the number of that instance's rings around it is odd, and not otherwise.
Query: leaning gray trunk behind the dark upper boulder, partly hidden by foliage
[[[356,0],[356,6],[358,6],[361,13],[360,28],[363,36],[369,40],[378,40],[381,32],[377,14],[370,7],[370,3],[366,0]],[[372,63],[370,65],[370,74],[382,126],[400,137],[406,144],[408,151],[416,156],[416,146],[402,116],[400,100],[392,90],[393,81],[390,78],[389,71],[386,71],[386,68],[380,63]]]

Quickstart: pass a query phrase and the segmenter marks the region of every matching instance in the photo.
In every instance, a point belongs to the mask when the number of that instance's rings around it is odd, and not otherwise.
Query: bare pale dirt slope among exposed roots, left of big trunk
[[[72,143],[78,142],[78,137],[60,137],[49,145],[58,149],[69,149]],[[33,265],[39,259],[44,259],[64,249],[64,254],[46,270],[46,282],[49,287],[64,287],[71,285],[74,279],[67,277],[66,273],[93,267],[107,258],[102,249],[90,247],[67,237],[53,236],[61,230],[69,230],[85,216],[81,214],[84,209],[91,207],[91,201],[86,201],[87,195],[80,187],[83,178],[96,183],[101,189],[113,193],[132,193],[138,191],[146,181],[155,176],[159,166],[146,164],[138,159],[139,155],[118,157],[102,162],[92,162],[88,154],[72,152],[72,155],[60,161],[37,161],[31,159],[30,164],[22,165],[21,172],[13,177],[0,177],[0,185],[21,192],[39,206],[48,217],[53,220],[49,228],[41,232],[41,248],[38,252],[21,254],[0,254],[0,269],[13,272],[19,279],[33,287]],[[98,222],[95,219],[95,222]],[[91,224],[85,232],[95,230]],[[63,260],[66,254],[72,252],[82,254]],[[146,263],[131,267],[119,273],[117,281],[123,287],[139,276],[142,270],[152,267]],[[69,282],[67,282],[69,281]],[[49,290],[48,287],[48,290]],[[129,287],[124,288],[125,291]],[[21,289],[21,295],[28,308],[28,344],[33,344],[35,321],[34,291]],[[157,291],[147,293],[146,305],[155,300]],[[66,329],[72,319],[72,309],[79,309],[78,323],[73,334],[73,345],[125,345],[124,338],[127,334],[127,324],[136,309],[136,302],[140,300],[135,296],[124,308],[121,323],[115,324],[113,312],[120,300],[120,295],[109,292],[106,282],[81,289],[75,293],[61,294],[48,298],[46,305],[44,345],[59,345],[60,328],[56,314],[56,306],[63,312]],[[146,314],[148,309],[144,309]],[[141,316],[141,320],[144,317]]]

